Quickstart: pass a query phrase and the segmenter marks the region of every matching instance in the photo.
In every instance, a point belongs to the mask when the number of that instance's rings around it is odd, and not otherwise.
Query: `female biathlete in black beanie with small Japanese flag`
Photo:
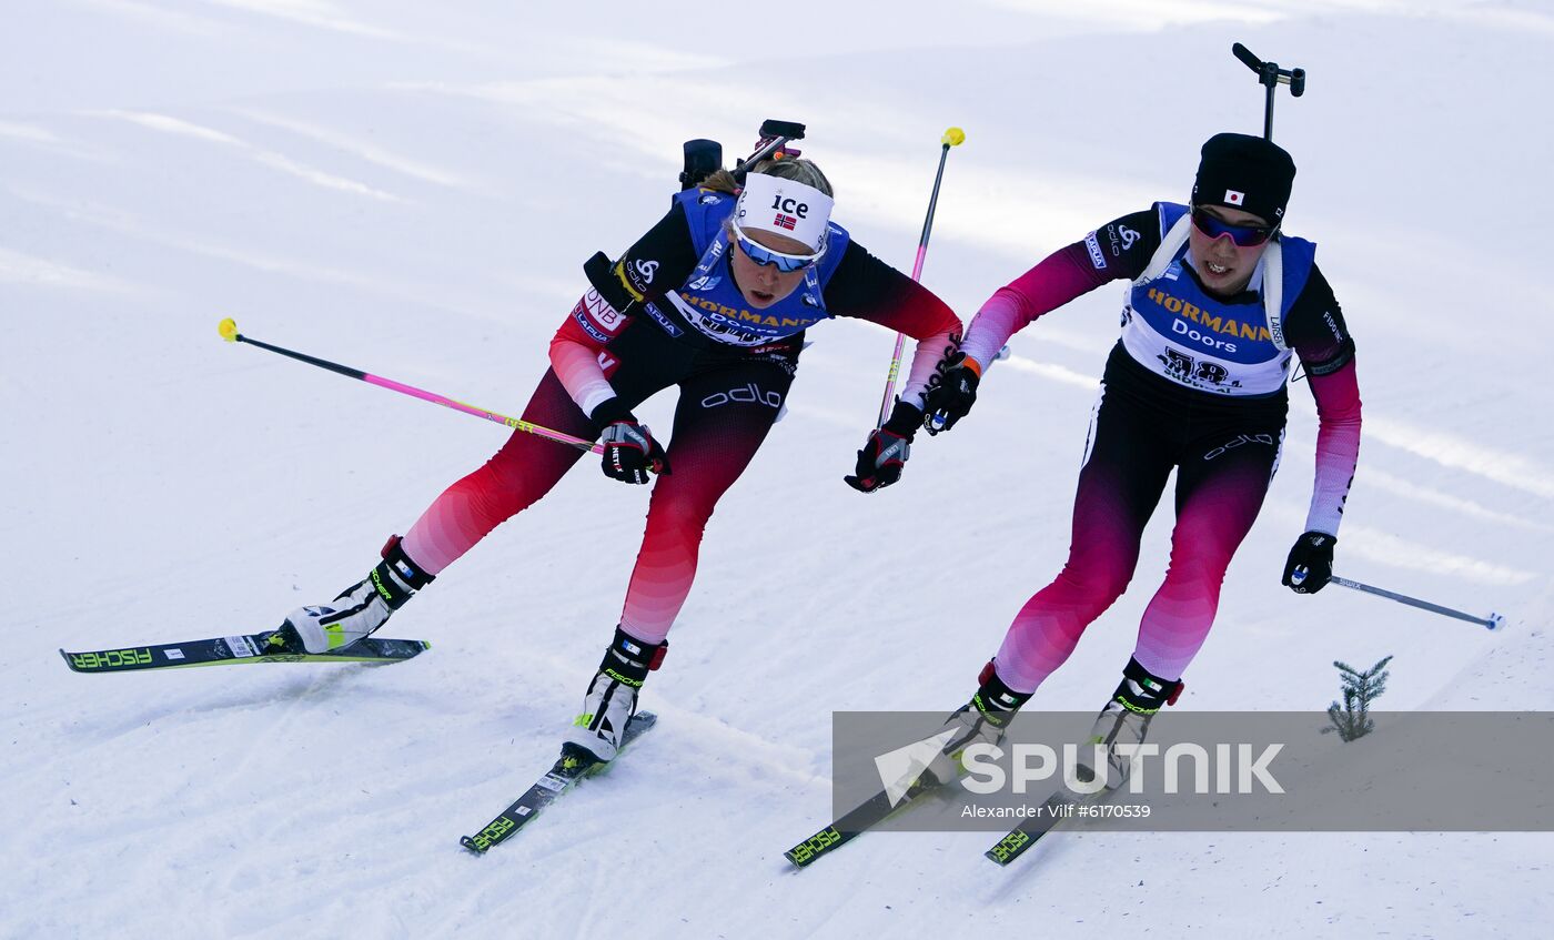
[[[1360,452],[1354,340],[1315,245],[1282,235],[1294,162],[1274,143],[1220,134],[1203,146],[1192,205],[1158,202],[1047,256],[977,312],[926,426],[948,430],[976,401],[982,367],[1016,331],[1106,281],[1133,281],[1122,339],[1106,360],[1085,443],[1068,562],[1015,617],[981,688],[951,715],[956,736],[934,775],[976,741],[996,741],[1013,713],[1116,601],[1139,559],[1145,522],[1176,468],[1170,567],[1139,626],[1122,684],[1096,721],[1106,785],[1127,766],[1111,747],[1141,743],[1181,693],[1181,674],[1214,623],[1231,556],[1279,466],[1290,360],[1316,398],[1316,485],[1307,531],[1284,584],[1321,590]]]

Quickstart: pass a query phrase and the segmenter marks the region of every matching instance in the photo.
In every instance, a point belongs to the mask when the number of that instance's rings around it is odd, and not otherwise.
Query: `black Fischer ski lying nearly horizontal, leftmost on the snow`
[[[308,653],[297,631],[283,626],[261,634],[211,637],[183,643],[115,646],[85,653],[61,649],[59,656],[65,657],[65,665],[76,673],[134,673],[258,662],[365,662],[382,665],[410,659],[430,648],[432,645],[426,640],[365,637],[340,649]]]

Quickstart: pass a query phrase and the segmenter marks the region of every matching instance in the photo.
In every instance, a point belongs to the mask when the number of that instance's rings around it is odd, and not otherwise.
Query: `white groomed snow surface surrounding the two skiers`
[[[1094,8],[1094,9],[1091,9]],[[1554,707],[1554,218],[1546,3],[982,0],[819,8],[12,0],[0,28],[3,937],[1540,935],[1548,834],[878,834],[793,873],[830,813],[833,708],[951,708],[1068,544],[1117,289],[1015,339],[903,485],[841,483],[892,337],[813,331],[791,416],[710,527],[659,729],[533,831],[474,831],[549,764],[620,606],[646,494],[583,468],[401,612],[393,668],[78,676],[87,649],[267,628],[362,576],[500,429],[216,337],[516,413],[581,261],[727,152],[807,121],[839,219],[965,315],[1097,222],[1186,196],[1260,129],[1232,40],[1310,71],[1276,131],[1290,227],[1360,343],[1343,573],[1489,634],[1277,584],[1284,472],[1190,671],[1190,708],[1312,708],[1395,654],[1391,708]],[[671,402],[645,409],[667,424]],[[1032,707],[1092,710],[1166,564]],[[1493,794],[1484,794],[1493,799]]]

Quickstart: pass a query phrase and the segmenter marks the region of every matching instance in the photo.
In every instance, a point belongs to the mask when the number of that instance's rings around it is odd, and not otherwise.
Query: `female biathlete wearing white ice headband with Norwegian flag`
[[[679,193],[664,219],[614,264],[589,266],[594,284],[550,342],[550,370],[524,420],[601,438],[605,475],[648,483],[646,533],[625,611],[575,721],[570,741],[611,760],[637,693],[667,649],[690,592],[702,530],[718,497],[744,472],[783,410],[808,326],[859,317],[917,339],[889,421],[869,433],[847,482],[873,491],[897,482],[922,395],[960,322],[943,301],[873,258],[830,221],[831,185],[810,160],[754,168],[743,190],[727,171]],[[665,447],[631,409],[679,387]],[[524,432],[449,486],[392,538],[382,562],[334,601],[286,623],[309,653],[373,632],[493,528],[550,491],[578,449]]]

